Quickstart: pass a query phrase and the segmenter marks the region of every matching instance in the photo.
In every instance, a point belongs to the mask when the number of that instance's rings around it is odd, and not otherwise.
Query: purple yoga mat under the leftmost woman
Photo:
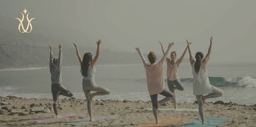
[[[29,122],[49,122],[49,121],[54,121],[54,120],[59,120],[59,119],[71,119],[73,116],[85,116],[84,114],[64,114],[61,116],[61,118],[56,118],[56,116],[50,116],[50,117],[42,117],[40,119],[33,119],[29,120]]]

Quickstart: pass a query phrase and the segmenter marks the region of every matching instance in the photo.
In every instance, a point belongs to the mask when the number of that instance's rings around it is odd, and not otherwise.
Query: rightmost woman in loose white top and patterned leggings
[[[193,53],[189,46],[188,40],[186,40],[186,42],[188,43],[189,60],[192,66],[192,74],[194,76],[193,94],[197,98],[198,110],[199,110],[202,123],[206,124],[207,122],[204,120],[205,100],[207,98],[221,97],[224,94],[224,92],[221,89],[210,85],[210,81],[209,81],[207,70],[206,70],[206,64],[210,60],[210,53],[212,52],[212,38],[210,38],[210,47],[206,57],[203,59],[204,57],[203,53],[197,52],[197,54],[195,54],[196,61],[194,61]],[[208,95],[203,96],[203,94],[208,94]]]

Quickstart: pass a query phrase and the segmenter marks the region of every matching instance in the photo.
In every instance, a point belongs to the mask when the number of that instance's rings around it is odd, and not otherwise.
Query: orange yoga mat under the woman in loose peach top
[[[182,117],[167,117],[167,118],[164,118],[164,119],[159,119],[160,123],[155,123],[156,121],[153,120],[149,123],[145,123],[143,125],[137,125],[135,127],[158,127],[158,126],[167,126],[168,124],[170,123],[175,123],[175,122],[178,122],[179,120],[182,120],[184,118]]]

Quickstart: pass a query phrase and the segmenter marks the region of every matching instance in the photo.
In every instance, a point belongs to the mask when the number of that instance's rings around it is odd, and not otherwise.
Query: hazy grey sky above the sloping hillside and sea
[[[160,54],[158,41],[164,42],[165,50],[168,42],[174,42],[171,51],[176,51],[178,58],[186,39],[192,42],[194,55],[197,51],[206,55],[213,35],[210,61],[256,61],[255,7],[256,1],[251,0],[0,0],[0,16],[16,20],[26,8],[29,18],[35,18],[32,25],[75,29],[128,52],[140,47],[142,52]]]

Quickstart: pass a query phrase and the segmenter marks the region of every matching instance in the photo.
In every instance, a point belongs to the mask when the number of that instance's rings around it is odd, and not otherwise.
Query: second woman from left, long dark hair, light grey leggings
[[[83,92],[85,92],[85,97],[87,100],[87,107],[88,107],[88,113],[90,115],[91,120],[90,121],[94,121],[94,117],[92,116],[92,100],[94,98],[95,95],[107,95],[110,94],[110,90],[97,85],[95,83],[94,77],[95,77],[95,63],[99,58],[100,55],[100,44],[101,44],[101,39],[99,39],[97,41],[97,53],[94,57],[94,59],[92,60],[92,54],[90,52],[85,53],[85,55],[83,55],[83,60],[80,56],[79,50],[77,48],[76,43],[74,43],[74,46],[76,47],[76,52],[77,52],[77,56],[79,58],[79,62],[81,64],[81,73],[83,78]],[[93,94],[91,94],[91,91],[96,91]]]

